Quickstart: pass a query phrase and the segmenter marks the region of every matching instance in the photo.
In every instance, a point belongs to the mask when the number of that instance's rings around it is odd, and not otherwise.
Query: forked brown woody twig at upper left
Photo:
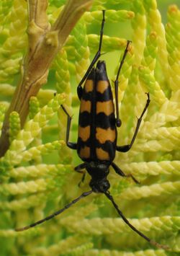
[[[9,114],[17,111],[21,126],[27,118],[29,100],[39,92],[48,77],[50,63],[85,11],[89,10],[93,0],[68,0],[60,16],[50,27],[46,9],[48,0],[29,0],[29,26],[27,30],[29,49],[22,61],[22,76],[6,112],[0,138],[0,157],[9,148]]]

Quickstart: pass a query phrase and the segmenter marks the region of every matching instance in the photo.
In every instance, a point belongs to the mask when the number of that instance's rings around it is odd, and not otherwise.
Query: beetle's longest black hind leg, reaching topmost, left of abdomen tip
[[[96,55],[94,56],[93,60],[91,61],[91,64],[89,65],[89,68],[87,69],[86,73],[84,74],[84,77],[81,79],[80,83],[78,84],[77,88],[77,93],[78,93],[78,98],[81,100],[82,96],[82,87],[81,85],[84,83],[86,80],[87,76],[89,75],[89,72],[91,71],[92,67],[96,63],[96,61],[99,59],[101,56],[101,50],[102,50],[102,37],[103,37],[103,32],[104,32],[104,23],[105,23],[105,10],[102,10],[102,27],[100,31],[100,39],[99,39],[99,49],[96,52]]]

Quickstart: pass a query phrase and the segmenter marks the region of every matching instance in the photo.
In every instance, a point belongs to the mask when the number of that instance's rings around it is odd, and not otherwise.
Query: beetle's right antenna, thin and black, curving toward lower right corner
[[[114,208],[117,210],[117,213],[119,213],[119,215],[122,217],[122,220],[125,221],[125,223],[130,226],[130,228],[135,231],[136,233],[138,233],[140,235],[140,237],[143,237],[146,241],[148,241],[150,244],[153,244],[154,246],[164,249],[164,250],[168,250],[169,247],[167,245],[163,245],[163,244],[158,244],[157,242],[149,239],[148,237],[145,236],[145,234],[143,234],[142,232],[140,232],[138,229],[135,228],[135,226],[132,226],[132,224],[130,224],[130,222],[125,218],[124,214],[122,213],[122,211],[120,211],[120,209],[118,208],[117,204],[114,202],[114,199],[112,198],[112,195],[110,195],[109,191],[104,191],[104,194],[107,196],[107,198],[112,202]]]

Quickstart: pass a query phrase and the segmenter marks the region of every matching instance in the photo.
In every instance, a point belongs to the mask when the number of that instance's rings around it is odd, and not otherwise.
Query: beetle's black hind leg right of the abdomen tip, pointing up
[[[117,71],[117,76],[116,76],[116,80],[114,81],[114,89],[115,89],[115,102],[116,102],[116,115],[117,115],[117,118],[116,118],[116,125],[117,127],[120,127],[121,125],[121,120],[120,120],[120,115],[119,115],[119,102],[118,102],[118,84],[119,84],[119,76],[120,76],[120,71],[122,69],[122,65],[125,61],[125,57],[127,55],[127,52],[128,52],[128,46],[129,44],[131,43],[131,41],[127,40],[127,45],[126,45],[126,48],[125,48],[125,52],[122,56],[122,60],[120,62],[120,66],[119,66],[119,69]]]

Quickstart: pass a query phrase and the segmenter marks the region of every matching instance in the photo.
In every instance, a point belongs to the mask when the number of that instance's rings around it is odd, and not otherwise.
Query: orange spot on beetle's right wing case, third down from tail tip
[[[104,144],[106,141],[114,142],[116,138],[116,131],[115,129],[112,130],[111,128],[102,129],[96,128],[96,139],[101,143]]]

